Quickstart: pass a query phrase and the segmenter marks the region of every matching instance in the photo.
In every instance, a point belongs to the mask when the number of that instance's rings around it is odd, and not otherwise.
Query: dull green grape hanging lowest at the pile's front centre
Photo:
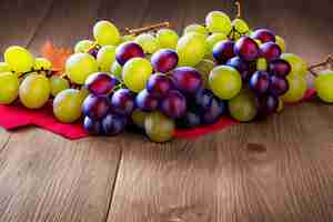
[[[168,142],[174,135],[174,122],[160,112],[152,112],[144,120],[147,135],[153,142]]]

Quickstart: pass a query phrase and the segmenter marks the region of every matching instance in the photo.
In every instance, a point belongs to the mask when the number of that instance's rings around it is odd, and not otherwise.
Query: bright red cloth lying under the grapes
[[[314,90],[307,90],[304,101],[314,95]],[[192,139],[226,129],[234,124],[239,124],[239,122],[230,118],[222,118],[218,123],[212,125],[200,127],[192,130],[176,130],[175,138]],[[0,105],[0,125],[7,130],[16,130],[27,125],[37,125],[71,140],[89,137],[80,123],[62,124],[58,122],[53,117],[50,104],[41,110],[28,110],[19,104],[10,107]]]

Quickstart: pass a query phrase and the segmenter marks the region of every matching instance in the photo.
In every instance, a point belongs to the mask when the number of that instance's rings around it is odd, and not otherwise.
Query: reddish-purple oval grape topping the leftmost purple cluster
[[[95,95],[107,95],[118,83],[115,77],[109,73],[98,72],[89,75],[85,80],[85,88]]]

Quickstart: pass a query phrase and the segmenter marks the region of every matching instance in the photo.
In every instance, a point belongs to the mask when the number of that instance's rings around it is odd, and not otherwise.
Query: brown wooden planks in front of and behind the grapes
[[[252,27],[285,38],[310,63],[333,51],[331,0],[249,0]],[[93,22],[170,20],[176,30],[222,0],[0,0],[0,51],[38,53],[89,38]],[[68,141],[34,128],[0,131],[0,221],[333,221],[333,107],[316,101],[194,141],[142,135]]]

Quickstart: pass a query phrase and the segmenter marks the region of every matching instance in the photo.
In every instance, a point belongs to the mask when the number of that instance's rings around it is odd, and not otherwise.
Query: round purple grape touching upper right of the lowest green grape
[[[186,113],[186,99],[176,90],[168,92],[160,105],[161,111],[172,119],[182,118]]]

